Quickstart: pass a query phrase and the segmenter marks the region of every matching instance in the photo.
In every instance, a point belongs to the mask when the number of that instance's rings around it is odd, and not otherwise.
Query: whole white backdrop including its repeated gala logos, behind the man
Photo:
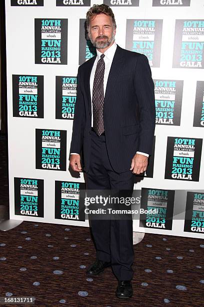
[[[133,229],[203,238],[203,1],[103,1],[116,43],[147,56],[155,84],[153,154],[135,176],[144,211]],[[95,54],[85,14],[102,2],[5,2],[10,218],[88,226],[84,176],[69,172],[68,153],[78,65]]]

